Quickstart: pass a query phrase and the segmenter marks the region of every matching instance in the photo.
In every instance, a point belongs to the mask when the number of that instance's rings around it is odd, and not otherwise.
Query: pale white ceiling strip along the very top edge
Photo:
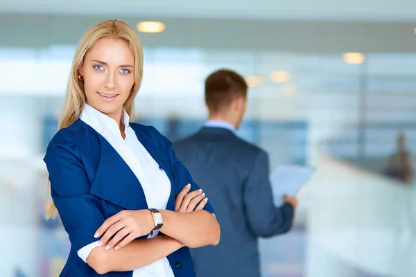
[[[179,18],[415,21],[415,0],[0,0],[0,12]]]

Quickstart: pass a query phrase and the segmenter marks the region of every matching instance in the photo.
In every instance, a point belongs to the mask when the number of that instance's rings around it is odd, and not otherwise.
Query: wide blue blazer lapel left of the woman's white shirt
[[[101,135],[98,138],[101,152],[89,193],[128,210],[148,208],[135,174],[107,140]]]

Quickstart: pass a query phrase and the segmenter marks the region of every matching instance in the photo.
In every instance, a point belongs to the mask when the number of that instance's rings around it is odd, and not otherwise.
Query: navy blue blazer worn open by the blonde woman
[[[180,190],[187,184],[191,184],[191,190],[198,190],[198,185],[177,159],[171,142],[155,127],[137,123],[130,123],[130,127],[168,175],[171,195],[166,209],[175,211],[175,199]],[[141,184],[125,161],[101,134],[80,119],[55,134],[44,161],[49,171],[53,202],[71,241],[71,251],[60,277],[98,276],[78,257],[77,251],[97,240],[94,233],[108,217],[122,210],[152,207],[148,207]],[[209,203],[204,209],[214,213]],[[144,235],[138,239],[146,238]],[[187,247],[167,258],[175,276],[195,276]],[[104,276],[131,277],[132,271],[109,272]]]

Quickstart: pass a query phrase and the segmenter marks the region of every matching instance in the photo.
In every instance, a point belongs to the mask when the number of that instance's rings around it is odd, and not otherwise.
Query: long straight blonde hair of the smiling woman
[[[80,42],[73,56],[71,65],[71,73],[69,75],[67,85],[67,95],[65,96],[62,116],[58,124],[58,130],[66,128],[73,124],[80,118],[83,107],[85,106],[86,98],[84,91],[83,80],[78,78],[78,70],[83,65],[85,53],[96,44],[101,38],[124,39],[130,45],[130,49],[135,56],[135,84],[132,87],[130,96],[125,101],[124,109],[130,117],[133,116],[134,101],[141,85],[141,78],[143,76],[143,50],[141,42],[135,30],[128,24],[118,20],[107,20],[95,24],[81,38]],[[48,188],[50,182],[48,181]],[[51,200],[48,211],[46,211],[46,219],[56,217],[58,210]]]

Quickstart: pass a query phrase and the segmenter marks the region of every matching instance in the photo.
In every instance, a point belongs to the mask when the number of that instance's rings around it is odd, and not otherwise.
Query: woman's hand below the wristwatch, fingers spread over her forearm
[[[153,229],[155,229],[155,222],[149,210],[124,210],[105,220],[94,237],[98,238],[103,235],[98,245],[101,247],[107,244],[105,250],[115,246],[114,249],[117,250],[135,238],[147,235]],[[112,238],[113,235],[114,238]]]

